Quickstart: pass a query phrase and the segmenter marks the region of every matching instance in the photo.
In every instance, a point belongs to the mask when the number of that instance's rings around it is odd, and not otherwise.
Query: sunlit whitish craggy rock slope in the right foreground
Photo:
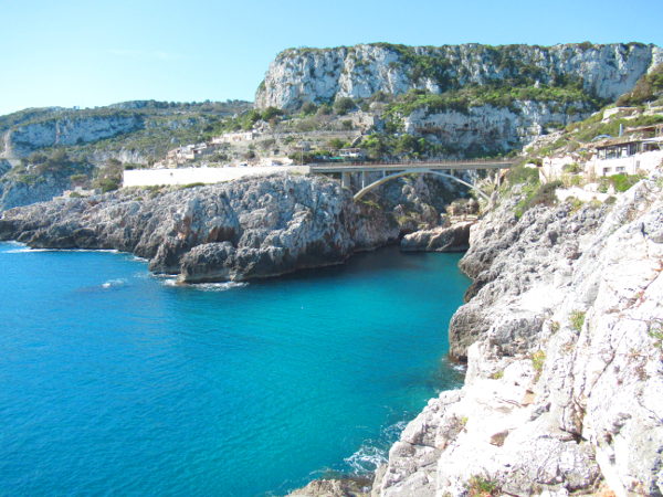
[[[663,173],[614,205],[514,202],[463,260],[465,385],[407,426],[373,495],[662,495]]]

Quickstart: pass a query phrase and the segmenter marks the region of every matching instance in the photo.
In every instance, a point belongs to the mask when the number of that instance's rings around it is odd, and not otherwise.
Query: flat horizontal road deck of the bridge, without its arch
[[[370,172],[402,171],[407,169],[433,170],[477,170],[506,169],[514,165],[513,160],[449,160],[431,162],[364,162],[364,163],[312,163],[311,172]]]

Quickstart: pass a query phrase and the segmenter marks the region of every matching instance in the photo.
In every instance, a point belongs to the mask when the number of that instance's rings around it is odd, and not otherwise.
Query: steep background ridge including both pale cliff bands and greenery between
[[[270,65],[255,105],[358,106],[376,130],[490,156],[588,117],[661,62],[660,47],[639,43],[292,49]]]

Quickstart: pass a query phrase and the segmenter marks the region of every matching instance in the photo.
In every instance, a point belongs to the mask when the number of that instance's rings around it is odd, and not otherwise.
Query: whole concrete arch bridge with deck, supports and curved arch
[[[355,193],[355,200],[361,199],[369,191],[388,181],[406,175],[435,175],[456,181],[477,192],[485,200],[488,197],[474,184],[454,173],[477,170],[508,169],[513,160],[464,160],[464,161],[432,161],[432,162],[400,162],[400,163],[352,163],[352,165],[311,165],[312,173],[340,173],[344,187],[350,188],[352,175],[359,176],[361,188]],[[378,173],[378,179],[368,181],[367,173]],[[376,175],[373,175],[375,177]],[[497,176],[499,178],[499,176]]]

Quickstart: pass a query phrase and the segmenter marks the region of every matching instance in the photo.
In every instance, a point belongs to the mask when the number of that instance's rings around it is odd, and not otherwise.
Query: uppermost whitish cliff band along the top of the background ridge
[[[580,87],[613,101],[663,62],[652,44],[589,42],[538,45],[406,46],[388,43],[335,49],[288,49],[270,65],[255,106],[296,109],[341,97],[425,91],[442,94],[467,86]]]

